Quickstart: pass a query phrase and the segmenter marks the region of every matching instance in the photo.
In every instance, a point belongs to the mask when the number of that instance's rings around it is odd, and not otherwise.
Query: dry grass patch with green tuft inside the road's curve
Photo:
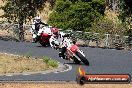
[[[58,62],[43,57],[32,59],[26,56],[15,56],[0,53],[0,74],[23,73],[52,70],[58,67]]]

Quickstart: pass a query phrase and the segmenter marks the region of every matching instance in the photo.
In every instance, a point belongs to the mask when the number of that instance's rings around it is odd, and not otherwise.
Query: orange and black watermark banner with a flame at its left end
[[[131,77],[129,74],[86,74],[86,71],[82,67],[79,67],[76,81],[78,84],[130,83]]]

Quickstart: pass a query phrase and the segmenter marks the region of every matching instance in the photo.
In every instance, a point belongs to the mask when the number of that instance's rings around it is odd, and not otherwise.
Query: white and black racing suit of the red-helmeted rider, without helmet
[[[59,48],[59,57],[62,58],[62,59],[65,59],[64,53],[66,51],[66,45],[63,42],[64,36],[65,36],[65,33],[59,32],[58,37],[51,36],[51,38],[50,38],[50,46],[52,48],[56,48],[56,46],[58,46],[58,48]]]

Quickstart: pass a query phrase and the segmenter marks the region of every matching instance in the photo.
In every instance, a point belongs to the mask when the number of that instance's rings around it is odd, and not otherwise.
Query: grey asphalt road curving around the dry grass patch
[[[90,66],[81,64],[87,74],[130,74],[132,76],[132,52],[90,47],[80,48],[90,62]],[[0,40],[0,52],[31,55],[32,57],[49,56],[63,64],[72,66],[71,70],[65,72],[0,76],[1,81],[75,81],[77,69],[80,66],[60,59],[56,50],[50,47],[41,47],[35,43]]]

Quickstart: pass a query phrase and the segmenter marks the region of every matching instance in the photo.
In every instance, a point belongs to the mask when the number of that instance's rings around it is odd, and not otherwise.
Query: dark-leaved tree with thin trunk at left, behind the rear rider
[[[6,4],[1,7],[4,10],[4,17],[9,22],[19,24],[19,39],[24,40],[23,23],[34,17],[37,11],[44,8],[47,0],[4,0]],[[51,0],[52,1],[52,0]]]

